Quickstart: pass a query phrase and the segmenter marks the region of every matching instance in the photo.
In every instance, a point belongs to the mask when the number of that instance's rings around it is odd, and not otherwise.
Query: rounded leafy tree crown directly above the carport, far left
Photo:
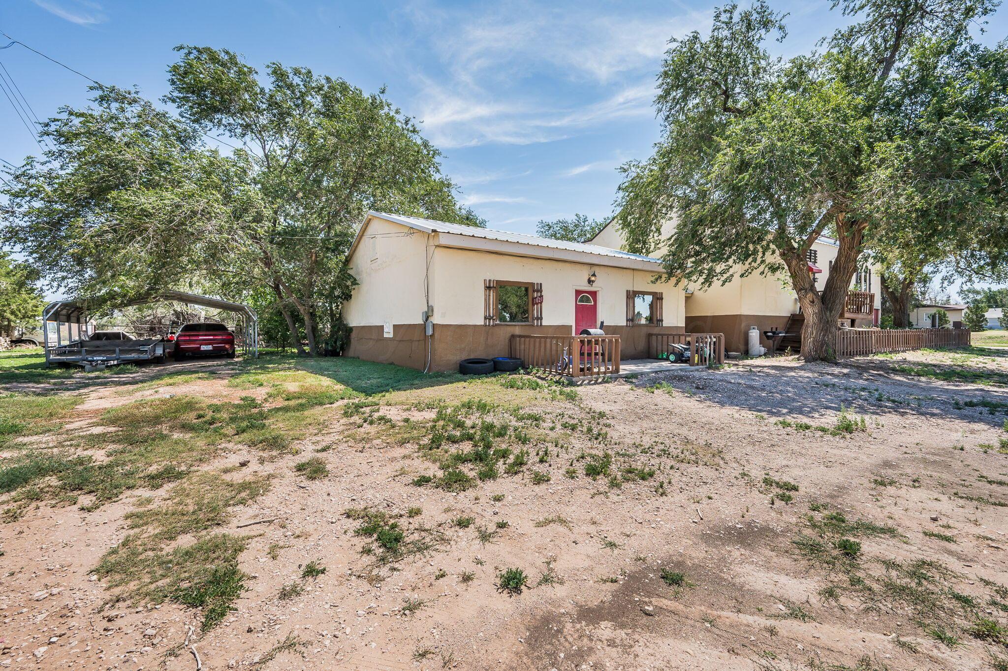
[[[52,148],[8,171],[0,242],[52,286],[93,308],[127,301],[219,265],[243,178],[200,134],[135,91],[96,88],[40,135]]]

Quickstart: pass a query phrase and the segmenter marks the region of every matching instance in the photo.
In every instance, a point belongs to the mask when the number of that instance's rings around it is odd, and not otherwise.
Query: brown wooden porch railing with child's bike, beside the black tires
[[[620,372],[619,336],[511,336],[511,356],[549,375],[601,378]]]

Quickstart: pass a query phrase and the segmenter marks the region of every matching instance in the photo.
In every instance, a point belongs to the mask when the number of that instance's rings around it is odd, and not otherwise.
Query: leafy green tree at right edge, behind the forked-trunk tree
[[[878,115],[890,139],[875,152],[865,199],[878,224],[869,252],[894,325],[905,327],[913,289],[930,277],[1008,272],[997,145],[1006,135],[1008,51],[920,39],[891,89]]]

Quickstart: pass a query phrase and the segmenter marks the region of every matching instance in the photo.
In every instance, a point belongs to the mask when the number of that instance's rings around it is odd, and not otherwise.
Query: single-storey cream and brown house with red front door
[[[347,264],[359,285],[343,307],[346,354],[368,361],[423,369],[429,356],[429,370],[455,370],[508,356],[512,333],[600,321],[621,337],[622,359],[638,359],[648,333],[684,332],[683,290],[651,283],[660,261],[598,245],[371,212]]]

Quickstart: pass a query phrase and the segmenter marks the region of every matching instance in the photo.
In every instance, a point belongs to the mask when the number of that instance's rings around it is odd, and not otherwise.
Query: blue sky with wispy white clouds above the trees
[[[783,55],[806,51],[844,18],[830,3],[790,13]],[[422,121],[460,198],[490,227],[612,211],[616,167],[658,137],[651,100],[666,42],[706,31],[713,5],[662,2],[320,2],[4,0],[0,29],[107,84],[166,91],[179,43],[227,47],[342,77]],[[1006,33],[1003,14],[985,41]],[[6,40],[0,42],[0,46]],[[40,117],[86,103],[80,77],[15,45],[0,62]],[[0,158],[38,151],[0,96]]]

